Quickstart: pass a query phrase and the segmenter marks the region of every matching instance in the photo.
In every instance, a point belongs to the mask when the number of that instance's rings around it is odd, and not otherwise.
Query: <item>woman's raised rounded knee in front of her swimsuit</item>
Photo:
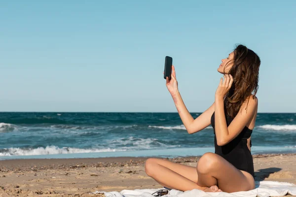
[[[218,166],[218,158],[215,153],[205,153],[198,161],[197,173],[207,174]]]

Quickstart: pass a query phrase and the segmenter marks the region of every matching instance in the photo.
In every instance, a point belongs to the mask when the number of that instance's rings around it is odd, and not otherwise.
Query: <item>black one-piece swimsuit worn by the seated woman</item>
[[[225,117],[228,127],[233,119],[230,116],[226,115],[226,113]],[[215,111],[211,117],[211,125],[214,129],[215,134],[215,153],[220,155],[230,164],[234,165],[237,169],[247,171],[255,178],[253,157],[250,149],[247,146],[247,139],[251,136],[253,130],[244,127],[240,134],[229,143],[223,146],[218,146],[215,133]],[[252,146],[252,142],[250,146]]]

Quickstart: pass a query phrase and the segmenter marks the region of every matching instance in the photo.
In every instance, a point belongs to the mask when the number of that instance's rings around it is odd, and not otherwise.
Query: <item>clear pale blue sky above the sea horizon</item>
[[[0,111],[190,112],[215,98],[235,44],[261,58],[259,112],[296,112],[296,1],[16,0],[0,3]]]

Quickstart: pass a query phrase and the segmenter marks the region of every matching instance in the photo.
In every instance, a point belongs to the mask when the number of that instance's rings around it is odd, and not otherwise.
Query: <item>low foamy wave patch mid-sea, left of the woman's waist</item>
[[[112,145],[122,147],[125,149],[151,149],[151,148],[173,148],[180,147],[181,145],[168,145],[162,143],[157,138],[137,138],[130,136],[128,138],[122,137],[119,139],[110,140]]]

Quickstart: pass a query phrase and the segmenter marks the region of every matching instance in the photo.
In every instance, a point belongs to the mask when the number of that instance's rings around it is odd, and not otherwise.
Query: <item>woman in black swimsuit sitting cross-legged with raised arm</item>
[[[251,133],[258,109],[260,59],[254,51],[238,45],[218,68],[223,74],[215,102],[195,120],[178,91],[175,67],[166,86],[189,134],[212,125],[215,153],[205,153],[196,167],[149,158],[148,176],[164,187],[187,191],[239,192],[255,189]],[[254,91],[254,94],[251,93]]]

